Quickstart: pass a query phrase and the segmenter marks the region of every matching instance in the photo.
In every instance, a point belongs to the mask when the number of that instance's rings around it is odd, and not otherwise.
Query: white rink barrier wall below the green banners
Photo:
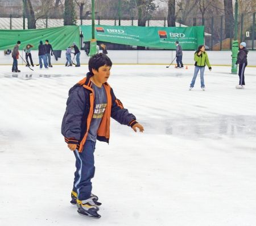
[[[183,51],[183,64],[193,65],[195,51]],[[108,56],[112,60],[113,64],[166,64],[169,65],[175,58],[176,51],[112,51],[108,50]],[[231,51],[207,51],[209,61],[211,65],[231,65]],[[25,53],[20,51],[20,55],[25,60]],[[32,60],[34,65],[39,63],[38,51],[31,51]],[[249,51],[247,60],[248,66],[256,66],[256,52]],[[81,64],[88,64],[89,57],[86,56],[84,51],[81,51],[80,62]],[[51,57],[52,64],[65,64],[65,51],[61,52],[61,58],[55,60],[55,57]],[[176,60],[173,64],[176,63]],[[4,55],[3,51],[0,51],[0,65],[11,65],[13,64],[13,58],[11,55]],[[19,65],[25,65],[22,59],[18,59]]]

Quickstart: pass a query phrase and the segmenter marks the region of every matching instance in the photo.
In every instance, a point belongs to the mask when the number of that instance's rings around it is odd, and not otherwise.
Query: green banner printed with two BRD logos
[[[80,26],[84,41],[92,39],[92,26]],[[176,49],[179,41],[184,50],[197,49],[204,44],[204,26],[196,27],[135,27],[105,26],[95,27],[95,38],[109,43],[139,45],[142,47]]]

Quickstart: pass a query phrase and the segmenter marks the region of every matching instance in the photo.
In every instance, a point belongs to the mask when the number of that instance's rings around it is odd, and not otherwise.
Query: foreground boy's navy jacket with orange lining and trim
[[[77,144],[82,152],[88,135],[90,122],[94,111],[94,91],[90,73],[69,90],[67,108],[61,125],[61,133],[68,144]],[[130,114],[123,104],[114,95],[108,83],[104,83],[107,106],[97,132],[97,140],[109,143],[110,116],[120,124],[133,127],[137,123],[133,114]]]

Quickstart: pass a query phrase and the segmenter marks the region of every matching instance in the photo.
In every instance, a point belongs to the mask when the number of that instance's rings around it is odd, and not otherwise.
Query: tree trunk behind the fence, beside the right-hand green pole
[[[233,37],[234,30],[234,16],[232,0],[224,0],[225,12],[225,37]]]

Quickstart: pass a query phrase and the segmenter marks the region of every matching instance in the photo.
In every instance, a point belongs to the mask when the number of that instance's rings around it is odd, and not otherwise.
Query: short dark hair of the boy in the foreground
[[[92,57],[90,57],[90,60],[88,62],[89,72],[93,74],[92,69],[95,69],[98,71],[98,69],[104,65],[112,66],[112,61],[105,54],[97,53],[96,55],[93,55]]]

